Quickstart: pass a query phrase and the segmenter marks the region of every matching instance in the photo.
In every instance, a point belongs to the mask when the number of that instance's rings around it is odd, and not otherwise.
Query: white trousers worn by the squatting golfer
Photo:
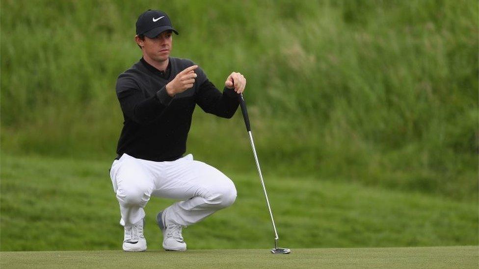
[[[188,154],[171,162],[154,162],[123,154],[113,161],[111,182],[120,203],[122,225],[132,225],[145,217],[150,196],[179,199],[165,210],[166,224],[187,226],[236,199],[233,181],[222,172]]]

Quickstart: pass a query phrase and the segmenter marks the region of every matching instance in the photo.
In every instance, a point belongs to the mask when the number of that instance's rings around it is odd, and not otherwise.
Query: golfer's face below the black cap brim
[[[141,44],[138,45],[143,48],[143,53],[149,58],[157,62],[165,61],[168,59],[171,46],[173,45],[172,31],[164,31],[155,38],[145,36],[145,40],[142,43],[143,46]]]

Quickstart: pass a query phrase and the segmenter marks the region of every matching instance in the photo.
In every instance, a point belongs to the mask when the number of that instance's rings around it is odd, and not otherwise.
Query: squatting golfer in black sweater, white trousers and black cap
[[[135,41],[143,57],[116,82],[125,121],[110,177],[125,228],[125,251],[146,250],[143,208],[151,196],[180,200],[160,211],[156,220],[163,248],[182,251],[182,227],[230,206],[237,195],[221,171],[185,155],[186,138],[196,105],[222,118],[233,117],[246,79],[231,73],[221,93],[198,65],[170,57],[173,33],[178,34],[166,13],[141,14]]]

